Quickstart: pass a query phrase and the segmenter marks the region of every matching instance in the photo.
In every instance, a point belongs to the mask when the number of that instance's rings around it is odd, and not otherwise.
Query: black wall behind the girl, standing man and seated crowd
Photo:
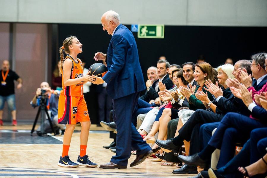
[[[131,28],[130,25],[126,25]],[[86,68],[95,61],[96,52],[106,53],[111,35],[103,31],[101,25],[59,24],[58,41],[70,35],[77,36],[83,44],[83,52],[78,57],[84,58]],[[156,66],[158,57],[166,56],[170,64],[181,65],[184,62],[196,62],[204,54],[206,62],[213,67],[222,64],[226,58],[234,61],[249,59],[252,54],[266,50],[266,27],[201,27],[201,26],[165,26],[164,39],[139,39],[134,33],[139,51],[139,59],[144,74],[150,66]],[[97,97],[95,86],[90,87],[92,96],[89,112],[92,123],[96,122]]]

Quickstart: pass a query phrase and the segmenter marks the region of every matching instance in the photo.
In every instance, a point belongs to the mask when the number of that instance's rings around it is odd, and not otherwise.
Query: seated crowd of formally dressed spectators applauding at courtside
[[[176,166],[173,174],[266,177],[267,54],[220,66],[204,60],[170,65],[161,56],[147,69],[132,123],[155,153],[151,161]],[[115,123],[101,125],[114,139],[104,148],[116,152]]]

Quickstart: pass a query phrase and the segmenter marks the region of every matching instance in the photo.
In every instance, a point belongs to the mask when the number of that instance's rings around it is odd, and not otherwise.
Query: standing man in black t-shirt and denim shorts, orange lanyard
[[[17,120],[14,80],[18,82],[17,89],[20,89],[22,87],[22,79],[13,70],[9,69],[8,60],[3,61],[0,73],[0,125],[3,125],[3,109],[5,102],[7,102],[8,109],[11,111],[13,119],[12,124],[13,126],[16,126]]]

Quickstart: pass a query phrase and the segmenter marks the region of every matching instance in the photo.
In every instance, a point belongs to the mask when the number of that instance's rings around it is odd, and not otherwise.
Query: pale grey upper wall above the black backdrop
[[[123,24],[267,26],[266,0],[0,0],[0,22],[99,24],[115,10]]]

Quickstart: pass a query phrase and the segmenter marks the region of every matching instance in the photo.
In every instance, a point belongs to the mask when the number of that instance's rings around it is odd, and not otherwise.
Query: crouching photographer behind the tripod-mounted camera
[[[59,90],[52,90],[47,82],[42,82],[40,88],[37,88],[36,94],[34,95],[33,99],[31,100],[30,104],[35,108],[36,106],[40,106],[42,102],[45,102],[47,107],[48,113],[51,113],[51,121],[53,125],[53,129],[55,130],[56,134],[61,135],[64,134],[66,125],[58,124],[58,98],[59,98]],[[42,125],[44,128],[44,133],[52,133],[52,129],[50,127],[48,118],[46,117],[44,124]],[[37,129],[37,134],[40,136],[41,133],[41,126]]]

